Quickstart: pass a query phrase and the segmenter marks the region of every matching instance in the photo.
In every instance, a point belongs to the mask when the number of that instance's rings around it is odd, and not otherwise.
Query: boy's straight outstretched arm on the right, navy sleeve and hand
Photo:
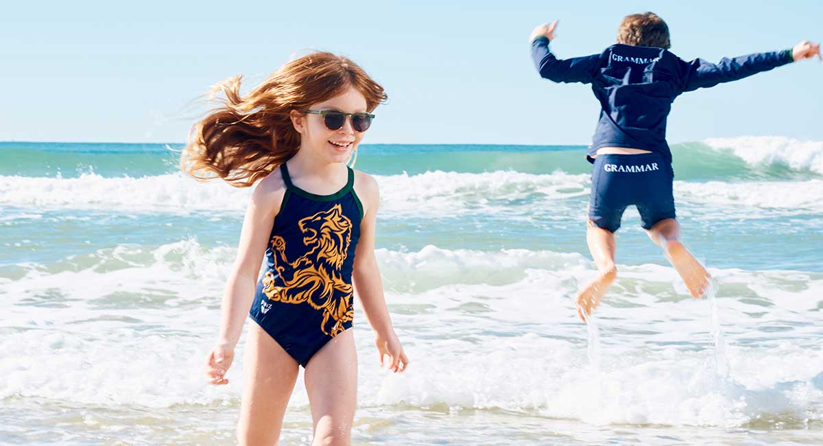
[[[759,72],[769,71],[805,58],[821,57],[820,44],[803,41],[793,49],[755,53],[737,58],[723,58],[719,63],[709,63],[703,59],[684,62],[685,82],[683,91],[709,88],[722,82],[737,81]]]

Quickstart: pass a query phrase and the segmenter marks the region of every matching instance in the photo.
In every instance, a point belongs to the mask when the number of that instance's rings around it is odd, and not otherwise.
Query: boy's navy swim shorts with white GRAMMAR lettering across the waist
[[[611,232],[620,228],[626,207],[635,205],[650,230],[658,221],[676,218],[672,163],[658,153],[599,155],[594,159],[588,219]]]

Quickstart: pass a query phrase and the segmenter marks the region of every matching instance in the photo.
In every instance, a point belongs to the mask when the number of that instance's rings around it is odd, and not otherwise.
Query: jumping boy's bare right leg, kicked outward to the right
[[[663,255],[672,263],[672,267],[686,282],[689,294],[700,299],[709,287],[709,272],[691,255],[688,249],[680,243],[680,224],[673,218],[658,221],[647,230],[649,238],[663,248]]]

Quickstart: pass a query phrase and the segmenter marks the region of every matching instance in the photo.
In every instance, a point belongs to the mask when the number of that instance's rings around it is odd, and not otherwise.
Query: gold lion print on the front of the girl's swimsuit
[[[335,337],[343,331],[343,324],[354,318],[354,309],[349,306],[353,295],[351,284],[343,281],[338,273],[351,244],[351,220],[343,215],[340,204],[336,204],[328,211],[301,219],[298,224],[309,252],[289,262],[286,240],[279,235],[272,237],[274,270],[284,286],[275,285],[276,275],[268,271],[263,277],[263,294],[276,302],[308,302],[312,308],[322,310],[320,329]],[[291,277],[287,277],[286,265],[291,267]]]

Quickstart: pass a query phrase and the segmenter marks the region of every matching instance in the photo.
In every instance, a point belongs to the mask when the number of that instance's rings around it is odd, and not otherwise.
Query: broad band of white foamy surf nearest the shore
[[[188,240],[109,250],[79,267],[30,265],[19,279],[0,279],[0,398],[235,402],[241,365],[227,388],[200,377],[232,251]],[[621,267],[587,335],[571,296],[593,271],[577,255],[429,247],[378,257],[413,367],[402,377],[376,369],[370,331],[359,323],[367,407],[503,409],[598,425],[823,417],[819,274],[712,270],[727,285],[695,301],[669,268]],[[483,281],[492,264],[500,271]],[[299,389],[291,404],[307,402]]]

